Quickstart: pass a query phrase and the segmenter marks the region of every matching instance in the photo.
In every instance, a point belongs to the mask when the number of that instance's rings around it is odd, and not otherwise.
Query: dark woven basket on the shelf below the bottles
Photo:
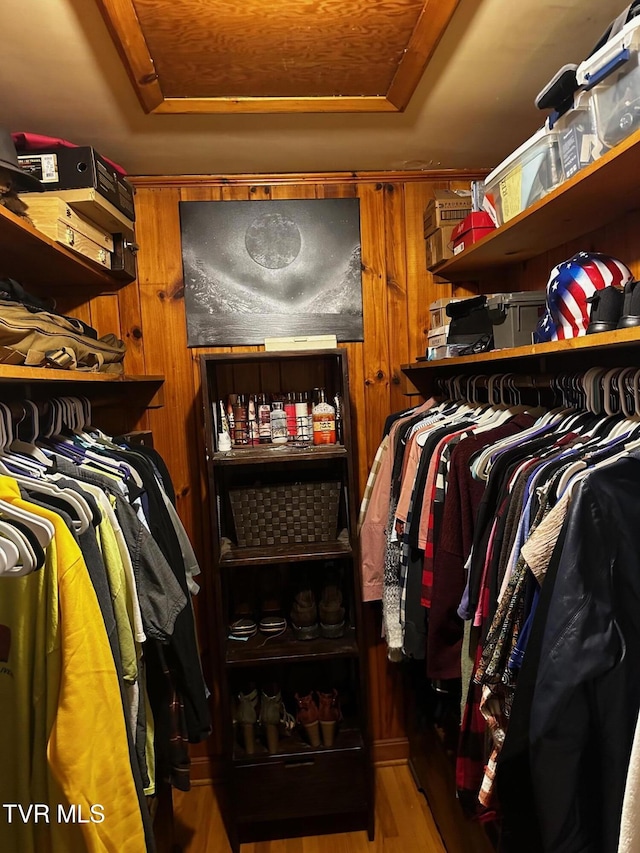
[[[291,483],[229,492],[238,545],[329,542],[338,532],[340,483]]]

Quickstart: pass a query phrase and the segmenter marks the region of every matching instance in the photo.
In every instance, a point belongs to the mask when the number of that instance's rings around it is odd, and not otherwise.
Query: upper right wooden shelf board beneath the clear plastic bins
[[[533,258],[640,207],[640,131],[464,252],[431,268],[465,281]]]

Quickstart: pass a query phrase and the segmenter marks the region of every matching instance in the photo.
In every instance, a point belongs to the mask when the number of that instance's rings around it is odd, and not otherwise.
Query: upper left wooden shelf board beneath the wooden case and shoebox
[[[56,285],[58,290],[90,287],[108,293],[127,284],[51,240],[6,207],[0,207],[0,275],[40,289]]]

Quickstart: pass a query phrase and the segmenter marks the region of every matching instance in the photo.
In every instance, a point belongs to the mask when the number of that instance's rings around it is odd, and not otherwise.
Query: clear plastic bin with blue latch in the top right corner
[[[634,18],[578,66],[578,85],[590,90],[596,132],[613,148],[640,127],[640,18]]]

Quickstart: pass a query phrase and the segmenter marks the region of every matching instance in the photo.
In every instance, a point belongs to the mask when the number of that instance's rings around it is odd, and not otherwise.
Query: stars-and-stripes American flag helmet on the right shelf
[[[547,282],[547,309],[533,333],[536,344],[577,338],[587,332],[590,296],[633,280],[626,264],[610,255],[578,252],[551,270]]]

